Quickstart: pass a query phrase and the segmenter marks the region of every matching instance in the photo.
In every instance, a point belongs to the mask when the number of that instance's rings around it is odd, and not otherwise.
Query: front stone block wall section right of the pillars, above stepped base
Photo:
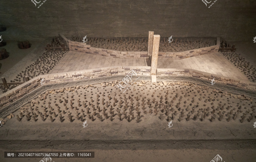
[[[191,76],[196,77],[204,80],[210,81],[214,78],[216,83],[221,83],[233,87],[248,89],[256,91],[256,83],[244,80],[234,80],[228,77],[210,74],[207,72],[201,72],[193,69],[157,69],[156,72],[157,76]]]

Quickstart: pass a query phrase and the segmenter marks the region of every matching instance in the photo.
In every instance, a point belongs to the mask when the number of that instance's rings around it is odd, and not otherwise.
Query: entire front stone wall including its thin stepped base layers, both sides
[[[115,80],[120,81],[131,70],[135,70],[137,75],[140,76],[138,81],[151,79],[150,66],[114,66],[37,76],[0,95],[0,117],[5,117],[9,113],[16,111],[20,106],[45,90],[75,85],[98,84]],[[216,84],[210,86],[210,81],[213,78],[215,78]],[[40,84],[41,79],[45,79],[43,85]],[[198,85],[209,85],[211,88],[217,87],[216,89],[226,90],[234,94],[246,94],[256,98],[256,83],[233,80],[193,69],[157,69],[157,81],[191,81]]]

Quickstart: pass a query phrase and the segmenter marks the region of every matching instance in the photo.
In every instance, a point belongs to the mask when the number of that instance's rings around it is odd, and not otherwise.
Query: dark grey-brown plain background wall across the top
[[[173,38],[219,36],[244,41],[255,37],[256,1],[218,0],[208,6],[201,0],[47,0],[37,8],[30,0],[10,0],[0,1],[0,23],[7,26],[8,38],[28,40],[58,33],[147,37],[148,31]]]

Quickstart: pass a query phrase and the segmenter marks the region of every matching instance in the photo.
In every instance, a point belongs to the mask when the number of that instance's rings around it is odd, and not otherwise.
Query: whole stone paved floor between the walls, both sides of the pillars
[[[145,66],[145,61],[144,59],[115,59],[69,51],[50,73],[72,72],[111,66]],[[187,68],[248,81],[247,77],[238,68],[218,52],[182,60],[159,59],[157,68]]]

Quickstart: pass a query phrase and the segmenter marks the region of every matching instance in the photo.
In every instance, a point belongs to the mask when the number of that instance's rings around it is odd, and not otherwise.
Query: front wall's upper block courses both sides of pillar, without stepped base
[[[92,79],[98,77],[115,76],[115,75],[127,75],[131,70],[135,70],[140,76],[150,76],[150,66],[114,66],[90,70],[81,70],[77,72],[65,72],[58,74],[47,74],[37,76],[30,81],[19,85],[6,93],[0,95],[0,107],[6,106],[9,103],[21,98],[25,94],[28,94],[32,90],[41,87],[40,81],[44,79],[44,85],[63,83],[68,81],[77,81],[81,79]],[[219,76],[216,74],[210,74],[193,69],[157,69],[158,77],[161,76],[190,76],[195,78],[211,81],[213,78],[216,83],[229,85],[233,87],[243,88],[247,90],[256,91],[256,83],[234,80],[228,77]]]

